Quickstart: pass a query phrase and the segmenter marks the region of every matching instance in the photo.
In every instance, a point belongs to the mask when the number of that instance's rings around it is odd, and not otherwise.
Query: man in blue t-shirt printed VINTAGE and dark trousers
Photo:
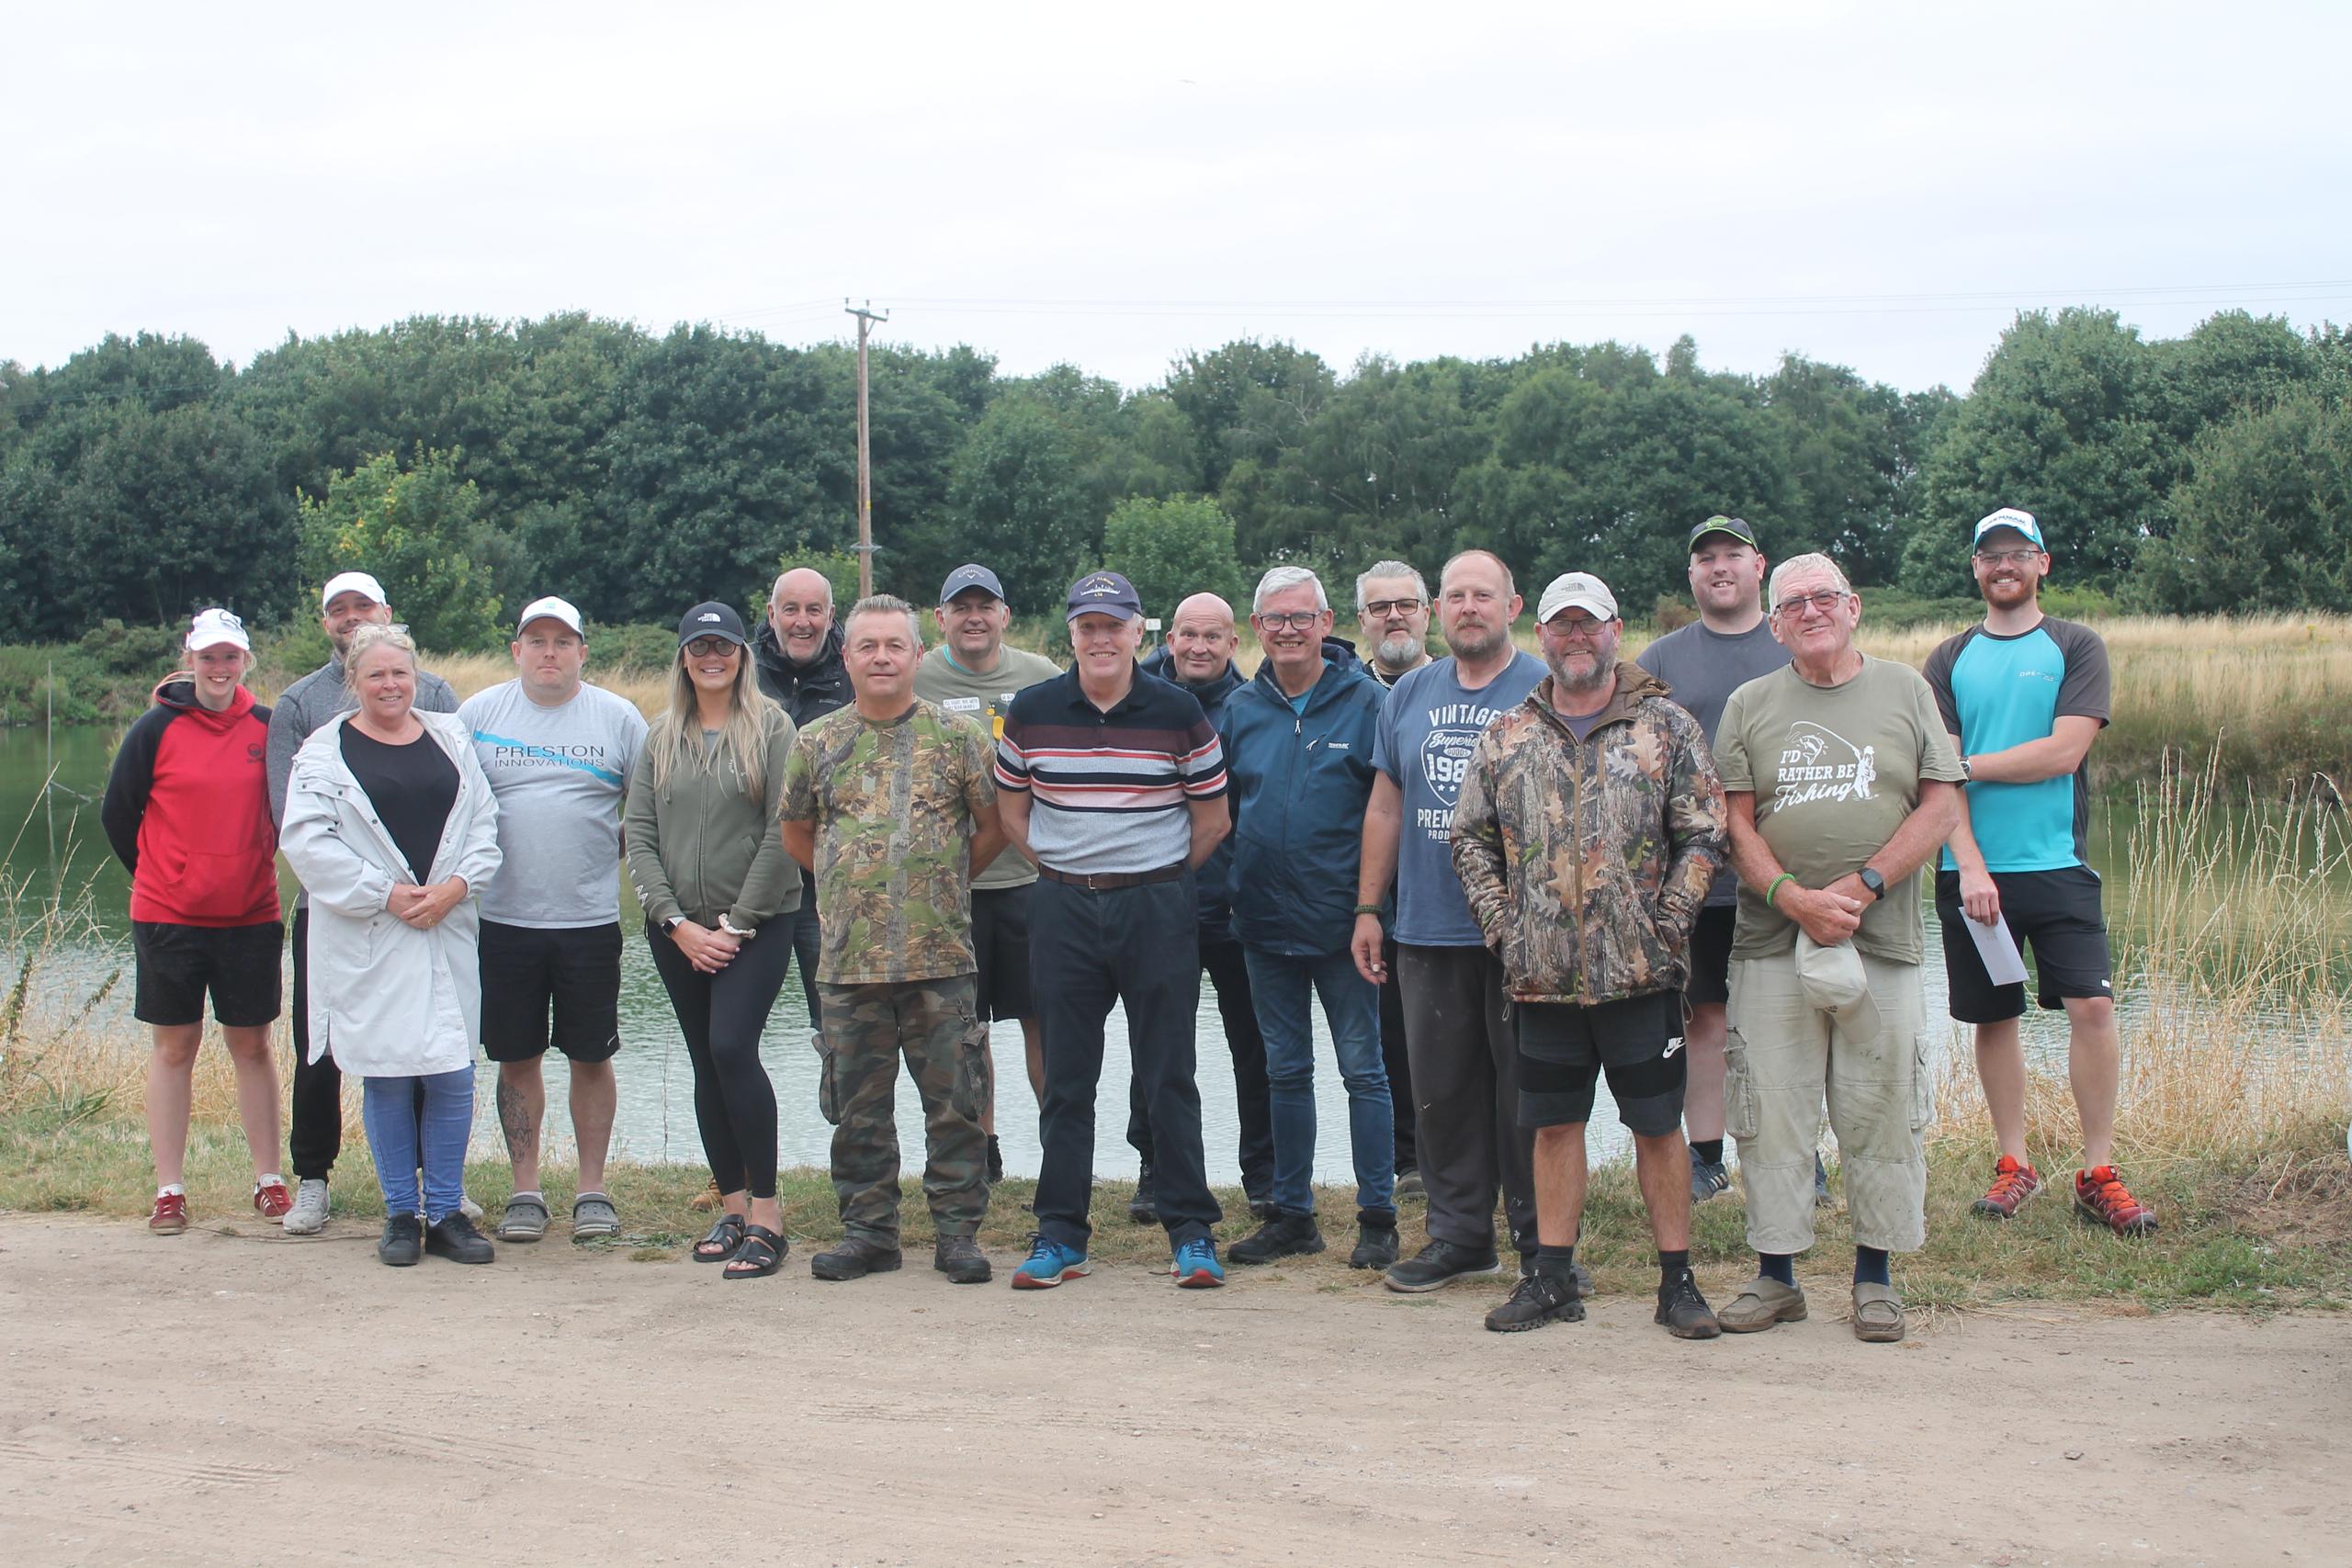
[[[1378,910],[1395,884],[1404,1048],[1430,1199],[1428,1246],[1388,1269],[1390,1291],[1494,1274],[1496,1190],[1522,1267],[1536,1255],[1531,1138],[1519,1128],[1519,1041],[1503,964],[1454,875],[1454,802],[1479,731],[1543,679],[1543,661],[1510,642],[1519,604],[1501,557],[1463,550],[1449,559],[1437,578],[1437,623],[1451,656],[1397,682],[1374,741],[1352,950],[1367,980],[1388,978]]]

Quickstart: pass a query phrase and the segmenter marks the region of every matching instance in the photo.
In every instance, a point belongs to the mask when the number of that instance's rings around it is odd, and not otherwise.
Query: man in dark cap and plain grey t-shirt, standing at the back
[[[1764,618],[1764,550],[1745,520],[1708,517],[1691,529],[1691,602],[1698,604],[1698,621],[1649,644],[1635,663],[1672,686],[1675,701],[1708,731],[1708,745],[1715,745],[1724,701],[1788,663],[1788,649]],[[1693,1204],[1705,1204],[1731,1185],[1724,1168],[1724,1001],[1731,994],[1738,889],[1740,877],[1724,860],[1691,931],[1691,980],[1682,990],[1689,1013],[1684,1046],[1691,1053],[1682,1121],[1691,1138]]]

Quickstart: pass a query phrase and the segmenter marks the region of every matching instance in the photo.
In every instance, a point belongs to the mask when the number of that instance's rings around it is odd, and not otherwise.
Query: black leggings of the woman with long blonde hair
[[[760,1065],[760,1032],[793,961],[793,917],[760,926],[734,961],[706,976],[647,922],[654,969],[670,992],[694,1063],[694,1124],[720,1192],[776,1197],[776,1086]]]

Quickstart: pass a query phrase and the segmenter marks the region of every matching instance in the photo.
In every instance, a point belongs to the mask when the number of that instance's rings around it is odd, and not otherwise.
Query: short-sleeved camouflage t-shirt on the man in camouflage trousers
[[[915,701],[875,722],[837,708],[793,736],[786,823],[816,830],[816,978],[896,985],[969,976],[971,835],[997,804],[976,724]]]

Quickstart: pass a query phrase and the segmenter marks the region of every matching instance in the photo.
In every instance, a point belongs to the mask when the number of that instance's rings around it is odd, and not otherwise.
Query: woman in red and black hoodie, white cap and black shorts
[[[278,830],[263,752],[270,710],[245,689],[245,623],[207,609],[188,630],[188,668],[155,686],[115,752],[99,818],[132,872],[134,1013],[155,1030],[148,1058],[148,1143],[155,1211],[148,1229],[188,1229],[188,1100],[205,1039],[205,992],[238,1070],[238,1117],[254,1157],[254,1208],[294,1201],[278,1175]]]

